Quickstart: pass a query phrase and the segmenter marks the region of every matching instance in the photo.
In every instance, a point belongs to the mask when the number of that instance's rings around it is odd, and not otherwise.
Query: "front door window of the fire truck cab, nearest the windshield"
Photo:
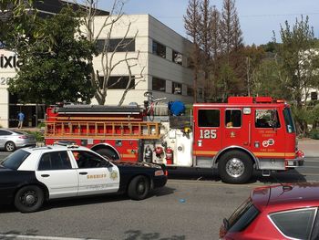
[[[280,128],[277,110],[256,110],[255,127],[261,129]]]

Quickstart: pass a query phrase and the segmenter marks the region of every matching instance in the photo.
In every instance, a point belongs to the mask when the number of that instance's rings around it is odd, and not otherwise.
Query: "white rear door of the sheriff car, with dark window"
[[[46,184],[49,198],[77,195],[77,170],[72,168],[67,151],[47,151],[41,155],[36,179]]]

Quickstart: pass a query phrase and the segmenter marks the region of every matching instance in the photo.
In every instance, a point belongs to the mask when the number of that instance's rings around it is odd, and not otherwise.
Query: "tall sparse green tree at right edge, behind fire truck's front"
[[[283,43],[277,45],[276,49],[281,68],[287,75],[285,84],[296,113],[297,130],[304,136],[308,130],[304,118],[308,104],[306,99],[310,89],[319,88],[318,51],[314,49],[314,30],[308,20],[308,16],[305,19],[302,16],[301,20],[296,19],[293,26],[286,21],[280,31]]]

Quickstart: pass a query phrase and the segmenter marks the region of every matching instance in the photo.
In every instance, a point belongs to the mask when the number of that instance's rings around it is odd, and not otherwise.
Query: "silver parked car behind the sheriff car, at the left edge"
[[[0,149],[15,151],[18,148],[36,146],[36,138],[23,131],[0,129]]]

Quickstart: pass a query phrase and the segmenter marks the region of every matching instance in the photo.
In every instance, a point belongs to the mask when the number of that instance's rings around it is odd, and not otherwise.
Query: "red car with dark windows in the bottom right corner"
[[[319,183],[260,187],[220,229],[223,240],[319,239]]]

